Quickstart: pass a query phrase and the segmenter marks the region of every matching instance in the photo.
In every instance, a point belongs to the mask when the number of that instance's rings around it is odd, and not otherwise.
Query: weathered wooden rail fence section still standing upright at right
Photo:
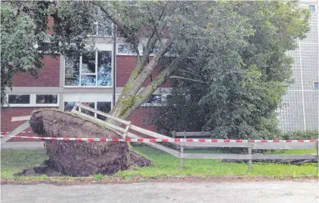
[[[175,132],[173,137],[206,137],[209,132]],[[319,139],[316,142],[181,142],[175,143],[180,147],[181,168],[184,159],[237,159],[248,161],[249,170],[252,169],[253,160],[289,160],[289,159],[316,159],[319,169]],[[203,154],[184,153],[184,148],[248,148],[248,154]],[[252,154],[252,150],[291,150],[291,149],[316,149],[317,154],[279,155],[279,154]]]

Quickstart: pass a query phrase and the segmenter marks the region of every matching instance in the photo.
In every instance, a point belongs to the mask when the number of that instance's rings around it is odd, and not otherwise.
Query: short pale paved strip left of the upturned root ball
[[[1,150],[44,150],[43,141],[5,142],[1,144]]]

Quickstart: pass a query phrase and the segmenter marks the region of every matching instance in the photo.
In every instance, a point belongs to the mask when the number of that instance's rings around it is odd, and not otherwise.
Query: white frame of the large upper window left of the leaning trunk
[[[111,54],[113,55],[113,51],[112,50],[99,50],[99,51],[111,51]],[[113,71],[114,71],[114,62],[113,62],[113,57],[111,59],[111,78],[112,78],[112,82],[110,86],[97,86],[97,61],[98,61],[98,51],[95,51],[95,73],[82,73],[81,67],[82,67],[82,56],[80,56],[79,59],[79,85],[65,85],[65,64],[66,64],[66,57],[64,57],[64,71],[63,71],[63,87],[67,87],[67,88],[112,88],[113,87]],[[81,86],[81,75],[95,75],[96,79],[95,79],[95,86]]]

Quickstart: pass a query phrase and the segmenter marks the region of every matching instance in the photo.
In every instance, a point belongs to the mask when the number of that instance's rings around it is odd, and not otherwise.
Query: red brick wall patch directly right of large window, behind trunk
[[[123,56],[119,55],[116,57],[116,87],[124,87],[129,80],[129,75],[136,66],[136,57],[134,56]],[[158,69],[155,68],[152,72],[152,79],[158,75]],[[151,77],[149,77],[142,87],[146,87],[151,82]],[[170,87],[170,83],[166,82],[160,87]]]

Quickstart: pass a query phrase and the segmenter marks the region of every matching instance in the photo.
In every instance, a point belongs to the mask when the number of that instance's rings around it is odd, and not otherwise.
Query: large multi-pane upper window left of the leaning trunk
[[[65,60],[66,86],[112,86],[112,52],[87,53],[79,59]]]

